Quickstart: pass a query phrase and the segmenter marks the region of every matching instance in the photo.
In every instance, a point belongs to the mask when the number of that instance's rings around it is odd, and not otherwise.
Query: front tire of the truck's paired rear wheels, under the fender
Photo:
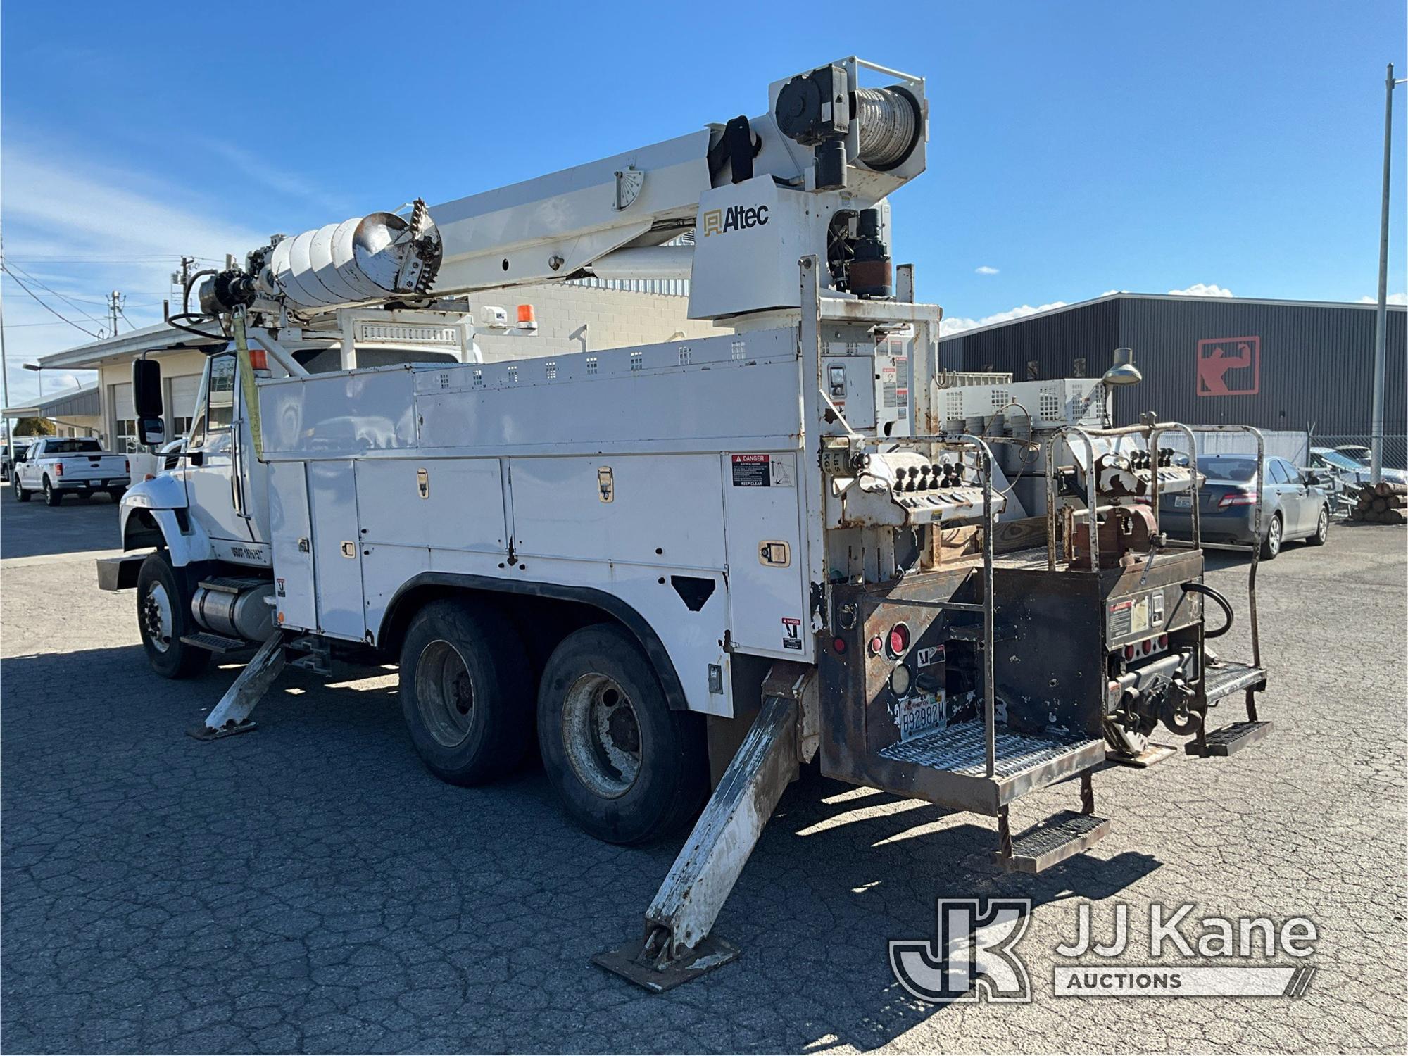
[[[532,742],[528,658],[493,605],[446,598],[417,612],[401,643],[398,696],[415,753],[442,781],[491,781]]]

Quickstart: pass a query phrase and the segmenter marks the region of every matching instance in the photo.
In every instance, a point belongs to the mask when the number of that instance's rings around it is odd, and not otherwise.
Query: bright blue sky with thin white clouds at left
[[[11,0],[6,258],[89,329],[111,289],[127,293],[120,328],[145,325],[180,253],[242,256],[275,231],[758,114],[769,82],[856,54],[928,77],[929,172],[893,199],[895,259],[950,327],[1114,289],[1374,293],[1384,65],[1408,76],[1401,0],[857,10],[293,0],[272,20]],[[17,403],[35,389],[20,362],[87,338],[8,276],[3,296]]]

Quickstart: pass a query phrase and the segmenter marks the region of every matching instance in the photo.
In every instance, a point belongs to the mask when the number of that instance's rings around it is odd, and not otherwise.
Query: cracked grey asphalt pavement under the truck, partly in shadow
[[[683,836],[598,843],[536,763],[486,788],[436,781],[386,670],[289,672],[256,732],[191,741],[237,667],[153,676],[134,596],[100,593],[87,556],[44,556],[70,510],[0,501],[6,553],[39,555],[0,563],[6,1052],[1408,1046],[1402,529],[1336,525],[1329,546],[1262,565],[1276,729],[1232,759],[1097,773],[1114,825],[1090,853],[1001,876],[991,819],[810,774],[719,917],[743,957],[652,995],[589,957],[638,934]],[[69,549],[110,545],[103,505]],[[1245,594],[1242,555],[1209,563],[1214,586]],[[1221,652],[1245,656],[1246,632]],[[1076,803],[1074,784],[1045,790],[1014,821]],[[988,895],[1033,900],[1019,949],[1035,1001],[908,998],[887,941],[931,938],[935,898]],[[1053,946],[1086,900],[1097,935],[1117,901],[1136,925],[1155,901],[1307,914],[1319,973],[1298,1000],[1057,1000]],[[1148,953],[1136,931],[1124,963]]]

